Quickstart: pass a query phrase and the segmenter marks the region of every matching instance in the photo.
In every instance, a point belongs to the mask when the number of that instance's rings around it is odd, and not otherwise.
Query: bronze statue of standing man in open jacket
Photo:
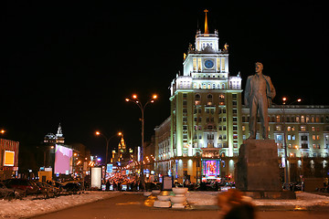
[[[259,112],[263,139],[269,138],[268,107],[275,97],[271,78],[262,74],[263,65],[256,63],[256,74],[247,79],[244,93],[245,104],[249,107],[249,139],[256,139],[257,113]]]

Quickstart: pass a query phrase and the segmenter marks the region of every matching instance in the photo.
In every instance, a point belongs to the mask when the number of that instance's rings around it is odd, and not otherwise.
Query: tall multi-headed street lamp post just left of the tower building
[[[152,97],[152,99],[149,99],[144,105],[142,104],[142,102],[137,98],[136,94],[133,94],[133,99],[125,99],[127,102],[133,102],[135,103],[141,110],[142,112],[142,146],[141,146],[141,183],[143,186],[143,189],[145,188],[145,181],[144,181],[144,177],[143,177],[143,139],[144,139],[144,110],[145,107],[147,106],[147,104],[149,103],[154,103],[154,100],[157,99],[157,96],[154,95]]]

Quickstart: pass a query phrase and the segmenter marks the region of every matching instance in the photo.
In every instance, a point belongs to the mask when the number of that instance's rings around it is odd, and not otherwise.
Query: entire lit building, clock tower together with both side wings
[[[171,115],[155,128],[155,172],[173,175],[178,183],[234,181],[239,146],[249,138],[241,77],[230,75],[228,45],[219,49],[218,39],[217,30],[209,34],[206,16],[205,33],[196,32],[183,75],[171,83]],[[285,105],[284,111],[282,107],[269,108],[269,137],[277,143],[278,164],[284,163],[285,130],[290,182],[301,181],[301,176],[327,176],[329,107]]]

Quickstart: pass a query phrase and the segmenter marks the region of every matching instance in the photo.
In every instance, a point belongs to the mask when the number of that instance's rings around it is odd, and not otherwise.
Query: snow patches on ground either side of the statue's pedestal
[[[189,192],[186,193],[187,203],[192,205],[217,205],[217,195],[220,192]],[[313,193],[296,193],[296,200],[254,199],[251,202],[256,206],[300,206],[310,207],[322,205],[329,207],[329,196]]]

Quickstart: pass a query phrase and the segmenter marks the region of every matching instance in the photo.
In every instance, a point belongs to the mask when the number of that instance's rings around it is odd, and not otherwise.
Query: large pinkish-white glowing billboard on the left
[[[67,174],[71,172],[71,158],[73,151],[67,147],[56,145],[55,172]]]

